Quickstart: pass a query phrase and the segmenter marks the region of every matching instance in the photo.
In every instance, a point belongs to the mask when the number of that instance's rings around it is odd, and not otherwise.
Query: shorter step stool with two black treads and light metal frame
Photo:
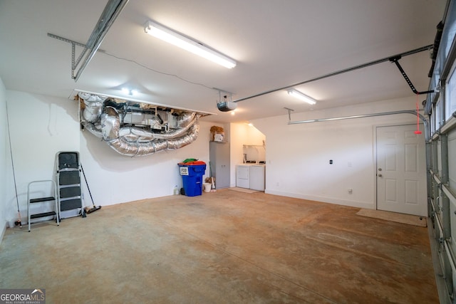
[[[44,190],[39,189],[38,187],[51,187],[51,191],[49,190]],[[35,197],[32,198],[33,196],[36,196],[36,192],[40,193],[46,193],[45,195],[50,194],[51,196],[43,196],[43,197]],[[34,207],[36,208],[31,208],[31,204],[33,204]],[[44,212],[40,213],[32,213],[31,209],[44,209]],[[46,211],[48,210],[48,211]],[[58,216],[58,199],[57,199],[57,187],[56,187],[56,182],[53,180],[41,180],[41,181],[34,181],[34,182],[29,182],[27,186],[27,223],[28,223],[28,232],[31,230],[31,221],[33,219],[41,219],[44,217],[49,217],[53,216],[53,218],[56,219],[57,221],[57,226],[60,224],[60,219]],[[42,221],[47,221],[49,219],[43,219]],[[33,223],[36,223],[38,221],[34,221]]]

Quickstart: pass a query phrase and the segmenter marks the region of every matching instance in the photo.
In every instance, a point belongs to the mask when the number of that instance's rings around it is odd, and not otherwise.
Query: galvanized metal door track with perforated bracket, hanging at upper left
[[[108,4],[106,4],[105,9],[103,10],[103,13],[100,16],[100,19],[98,19],[98,22],[95,25],[95,28],[93,28],[93,31],[90,34],[90,37],[88,38],[86,44],[71,41],[70,39],[48,33],[48,36],[51,38],[56,38],[58,40],[71,43],[71,78],[74,79],[75,82],[78,81],[79,77],[81,76],[81,73],[83,73],[83,70],[86,68],[90,60],[92,60],[93,56],[95,56],[95,53],[99,51],[98,48],[100,48],[100,45],[103,42],[103,38],[105,38],[110,26],[113,25],[115,19],[117,19],[120,12],[123,10],[128,1],[129,0],[108,1]],[[77,59],[76,46],[83,47],[83,51]],[[76,71],[78,66],[79,69]]]

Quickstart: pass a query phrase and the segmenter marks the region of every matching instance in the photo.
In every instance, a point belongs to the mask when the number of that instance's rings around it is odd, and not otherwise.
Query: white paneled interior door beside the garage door
[[[424,135],[416,125],[377,127],[377,209],[427,216]]]

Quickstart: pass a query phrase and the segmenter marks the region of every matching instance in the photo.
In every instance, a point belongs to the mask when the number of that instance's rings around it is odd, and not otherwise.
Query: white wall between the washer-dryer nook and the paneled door
[[[414,108],[415,98],[403,98],[293,113],[291,120]],[[266,135],[266,193],[375,209],[375,126],[413,123],[416,117],[401,114],[301,125],[288,125],[288,120],[284,113],[252,121]]]

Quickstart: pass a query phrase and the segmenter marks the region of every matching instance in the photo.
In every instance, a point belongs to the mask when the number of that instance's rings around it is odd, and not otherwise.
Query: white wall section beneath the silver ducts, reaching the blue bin
[[[89,132],[81,132],[81,162],[95,205],[119,204],[173,194],[182,187],[178,162],[196,158],[206,162],[209,175],[210,122],[199,122],[195,142],[178,150],[162,151],[143,157],[118,154]],[[84,201],[91,205],[83,185]]]

